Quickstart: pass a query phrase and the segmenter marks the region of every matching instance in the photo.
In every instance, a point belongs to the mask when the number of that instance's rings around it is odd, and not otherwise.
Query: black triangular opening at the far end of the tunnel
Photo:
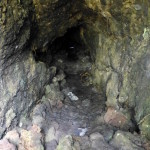
[[[69,28],[62,36],[48,45],[46,51],[36,52],[35,60],[48,66],[57,66],[67,74],[78,74],[91,69],[89,50],[80,37],[81,26]]]

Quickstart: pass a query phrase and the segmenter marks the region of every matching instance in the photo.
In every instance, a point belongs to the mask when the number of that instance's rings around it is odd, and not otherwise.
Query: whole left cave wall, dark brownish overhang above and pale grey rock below
[[[72,1],[0,2],[0,136],[18,125],[41,99],[53,74],[33,53],[75,25],[81,15]],[[50,57],[47,59],[51,59]]]

